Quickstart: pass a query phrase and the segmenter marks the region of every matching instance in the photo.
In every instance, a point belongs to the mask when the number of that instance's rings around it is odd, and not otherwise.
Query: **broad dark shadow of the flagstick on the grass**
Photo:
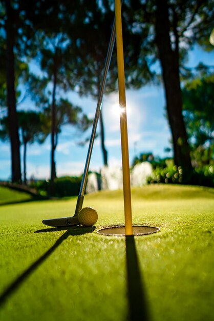
[[[129,321],[149,321],[134,236],[125,237]]]

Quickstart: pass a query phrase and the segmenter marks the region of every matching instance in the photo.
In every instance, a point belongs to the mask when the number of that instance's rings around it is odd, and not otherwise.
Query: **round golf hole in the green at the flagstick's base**
[[[133,226],[133,235],[148,235],[156,233],[158,231],[160,231],[160,228],[155,226]],[[97,233],[109,236],[125,236],[125,226],[104,227],[102,229],[97,230]]]

